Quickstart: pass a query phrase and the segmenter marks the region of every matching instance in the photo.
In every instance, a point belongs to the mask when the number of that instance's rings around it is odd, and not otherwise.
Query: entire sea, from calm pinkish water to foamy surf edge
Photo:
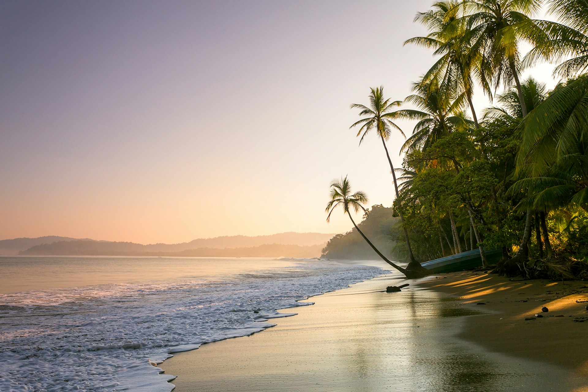
[[[152,366],[370,279],[325,260],[0,257],[1,391],[170,391]]]

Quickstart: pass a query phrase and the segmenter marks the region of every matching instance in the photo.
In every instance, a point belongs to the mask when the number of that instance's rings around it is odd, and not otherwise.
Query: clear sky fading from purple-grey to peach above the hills
[[[350,230],[342,211],[325,220],[332,180],[368,206],[392,205],[393,185],[349,106],[410,94],[434,59],[403,42],[431,4],[0,2],[0,239]]]

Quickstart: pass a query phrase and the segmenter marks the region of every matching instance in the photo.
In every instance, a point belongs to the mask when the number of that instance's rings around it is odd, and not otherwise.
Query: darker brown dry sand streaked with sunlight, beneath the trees
[[[588,282],[519,280],[463,272],[443,274],[421,285],[494,312],[468,318],[459,334],[463,339],[588,377]],[[542,307],[549,311],[542,312]],[[535,318],[535,314],[543,317]]]

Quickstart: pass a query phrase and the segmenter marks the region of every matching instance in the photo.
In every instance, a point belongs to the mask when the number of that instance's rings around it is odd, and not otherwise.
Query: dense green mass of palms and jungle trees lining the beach
[[[557,22],[533,18],[542,6]],[[369,105],[352,105],[360,143],[375,130],[393,175],[400,224],[390,227],[391,251],[417,270],[471,249],[488,267],[485,249],[501,249],[495,271],[508,276],[588,277],[588,2],[440,1],[415,21],[429,33],[405,44],[431,49],[436,61],[413,94],[392,100],[372,88]],[[556,64],[552,91],[521,78],[540,61]],[[476,92],[493,105],[475,108]],[[395,168],[386,140],[404,135],[398,119],[415,125]],[[337,184],[332,192],[343,190]],[[348,196],[345,213],[365,203]]]

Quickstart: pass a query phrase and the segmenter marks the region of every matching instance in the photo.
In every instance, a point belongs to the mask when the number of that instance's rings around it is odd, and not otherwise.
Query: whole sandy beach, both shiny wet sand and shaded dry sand
[[[405,282],[389,274],[312,297],[275,327],[161,368],[178,392],[588,390],[583,282],[465,272],[383,292]]]

